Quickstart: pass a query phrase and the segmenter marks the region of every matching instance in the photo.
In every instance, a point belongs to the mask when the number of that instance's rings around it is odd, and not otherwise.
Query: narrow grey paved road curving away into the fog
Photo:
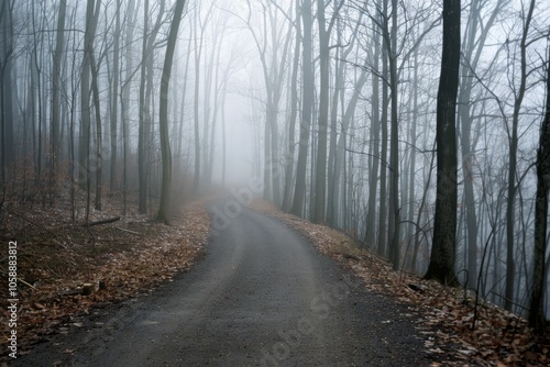
[[[282,223],[235,208],[217,218],[190,273],[96,310],[13,365],[428,365],[405,308],[364,291]]]

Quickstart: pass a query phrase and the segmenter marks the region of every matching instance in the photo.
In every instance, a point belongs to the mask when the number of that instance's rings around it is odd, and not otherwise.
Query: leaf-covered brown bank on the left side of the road
[[[19,349],[43,341],[94,304],[136,296],[187,271],[207,242],[210,216],[204,207],[202,202],[186,205],[169,226],[132,214],[90,227],[81,226],[81,218],[74,223],[61,209],[8,208],[0,237],[4,249],[9,241],[18,242]],[[90,221],[116,216],[120,208],[119,202],[106,200]],[[2,255],[2,289],[8,289],[7,268]],[[6,302],[4,297],[0,301],[4,310]],[[4,348],[8,323],[1,322],[0,330]]]

